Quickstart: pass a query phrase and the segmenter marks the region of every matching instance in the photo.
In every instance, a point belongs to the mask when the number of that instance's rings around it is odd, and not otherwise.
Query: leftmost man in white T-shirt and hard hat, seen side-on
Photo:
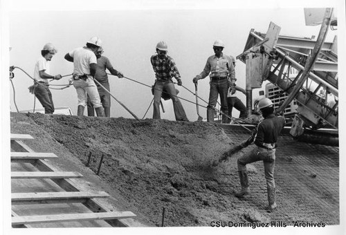
[[[57,53],[57,49],[53,44],[46,44],[41,50],[42,57],[37,59],[34,69],[35,84],[29,87],[30,93],[35,94],[39,102],[44,107],[44,113],[53,114],[54,104],[52,99],[52,93],[49,90],[48,79],[61,79],[62,75],[51,75],[49,68],[49,62],[53,58],[53,55]]]

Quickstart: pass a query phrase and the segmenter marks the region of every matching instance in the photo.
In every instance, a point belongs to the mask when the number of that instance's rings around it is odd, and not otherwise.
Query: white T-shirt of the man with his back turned
[[[75,48],[69,55],[73,57],[74,74],[90,74],[90,64],[98,64],[95,53],[86,47]]]

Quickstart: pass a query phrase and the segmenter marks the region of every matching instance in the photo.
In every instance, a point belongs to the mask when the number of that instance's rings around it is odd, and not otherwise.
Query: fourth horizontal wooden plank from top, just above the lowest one
[[[104,191],[62,191],[45,193],[13,193],[12,205],[46,204],[46,203],[85,203],[89,198],[107,198]]]

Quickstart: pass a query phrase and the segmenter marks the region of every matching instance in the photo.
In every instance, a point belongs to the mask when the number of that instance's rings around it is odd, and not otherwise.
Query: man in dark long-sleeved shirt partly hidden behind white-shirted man
[[[98,50],[96,51],[98,66],[96,68],[94,79],[98,81],[102,86],[104,86],[104,88],[107,88],[107,91],[111,91],[109,88],[109,81],[106,69],[108,69],[109,72],[111,72],[111,75],[117,76],[119,78],[124,77],[124,75],[122,75],[122,73],[113,68],[109,59],[102,55],[103,53],[103,48],[102,46],[100,46],[100,48],[98,48]],[[100,95],[101,103],[104,109],[104,114],[107,118],[109,118],[111,116],[111,95],[109,95],[109,92],[104,91],[104,88],[102,88],[102,86],[100,86],[98,82],[95,82],[95,84],[98,87],[98,93]],[[93,104],[91,103],[89,95],[86,106],[88,107],[88,116],[94,116],[95,113],[93,111]]]

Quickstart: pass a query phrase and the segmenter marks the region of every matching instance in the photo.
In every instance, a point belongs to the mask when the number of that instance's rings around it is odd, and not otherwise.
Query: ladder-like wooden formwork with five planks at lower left
[[[69,223],[82,224],[85,227],[95,227],[95,221],[101,220],[101,226],[107,227],[129,227],[125,218],[134,218],[136,215],[132,212],[111,212],[109,209],[100,205],[96,198],[107,198],[109,194],[104,191],[81,191],[70,178],[82,178],[78,172],[57,171],[48,160],[57,158],[54,153],[35,153],[30,147],[24,144],[23,140],[33,140],[30,135],[11,134],[11,164],[30,164],[34,171],[12,171],[11,180],[45,180],[44,183],[50,182],[57,187],[55,191],[46,191],[33,189],[34,191],[21,191],[11,194],[12,202],[12,227],[32,227],[33,225],[53,224],[53,227],[70,227]],[[24,181],[25,185],[27,181]],[[31,181],[30,181],[31,182]],[[53,213],[48,210],[39,210],[39,207],[45,205],[78,205],[84,207],[84,212]],[[35,205],[37,214],[25,214],[16,210],[16,207]],[[30,209],[28,209],[30,211]],[[30,211],[31,212],[31,211]],[[42,214],[45,212],[46,214]],[[86,221],[86,222],[85,222]],[[91,225],[86,225],[90,221]],[[55,224],[54,224],[55,223]],[[81,227],[81,225],[78,225]]]

